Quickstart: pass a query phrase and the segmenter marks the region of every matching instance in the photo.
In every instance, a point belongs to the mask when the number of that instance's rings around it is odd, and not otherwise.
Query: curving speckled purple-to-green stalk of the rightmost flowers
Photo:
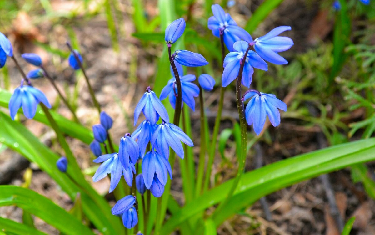
[[[236,191],[238,183],[240,182],[241,176],[243,175],[243,171],[245,169],[246,144],[248,141],[248,124],[246,122],[245,108],[244,108],[242,96],[241,96],[241,80],[242,80],[243,67],[245,66],[245,63],[246,63],[246,57],[248,56],[248,52],[251,47],[252,47],[251,45],[248,46],[248,49],[246,50],[245,55],[242,58],[242,62],[240,62],[240,71],[238,73],[237,86],[236,86],[236,101],[237,101],[237,109],[238,109],[238,114],[240,118],[240,128],[241,128],[241,147],[240,147],[239,156],[238,156],[239,166],[238,166],[236,178],[234,178],[234,182],[232,184],[231,189],[229,190],[228,195],[226,195],[226,198],[224,199],[224,201],[220,203],[219,207],[215,210],[213,217],[215,217],[215,215],[218,214],[220,210],[223,208],[223,206],[225,206],[226,203],[228,203],[228,201],[231,199],[234,191]]]

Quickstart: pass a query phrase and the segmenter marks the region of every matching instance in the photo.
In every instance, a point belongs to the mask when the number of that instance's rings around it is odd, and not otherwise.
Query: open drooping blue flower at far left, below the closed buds
[[[12,97],[10,97],[10,116],[14,120],[18,109],[22,107],[26,118],[31,119],[35,116],[36,107],[39,102],[42,102],[46,107],[51,108],[51,104],[49,104],[48,99],[43,92],[32,86],[24,86],[21,84],[21,86],[14,90]]]

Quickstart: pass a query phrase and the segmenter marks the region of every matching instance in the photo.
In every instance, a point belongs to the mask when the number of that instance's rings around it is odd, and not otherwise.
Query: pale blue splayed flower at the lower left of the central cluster
[[[117,153],[101,155],[93,160],[93,162],[102,163],[93,176],[94,182],[103,179],[105,176],[111,173],[110,193],[116,188],[122,175],[124,175],[127,185],[132,185],[135,166],[134,164],[129,163],[128,167],[123,167]]]

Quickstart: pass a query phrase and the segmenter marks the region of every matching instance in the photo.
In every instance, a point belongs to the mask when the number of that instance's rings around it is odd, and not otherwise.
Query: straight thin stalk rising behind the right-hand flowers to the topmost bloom
[[[220,34],[220,45],[221,45],[222,65],[224,65],[225,47],[224,47],[224,38],[223,38],[222,34]],[[222,69],[224,71],[224,67]],[[220,88],[220,99],[219,99],[219,108],[217,109],[215,125],[214,125],[213,133],[212,133],[212,140],[211,140],[210,151],[208,152],[208,163],[207,163],[206,175],[205,175],[205,179],[204,179],[203,192],[205,192],[205,191],[208,190],[208,186],[210,184],[212,164],[213,164],[213,160],[214,160],[215,153],[216,153],[217,135],[219,134],[219,128],[220,128],[220,122],[221,122],[221,114],[223,112],[224,93],[225,93],[225,87],[221,86],[221,88]]]

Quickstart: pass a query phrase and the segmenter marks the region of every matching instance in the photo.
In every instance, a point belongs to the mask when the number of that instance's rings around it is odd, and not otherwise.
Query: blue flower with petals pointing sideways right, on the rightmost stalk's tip
[[[264,36],[254,40],[254,49],[264,60],[274,63],[275,65],[285,65],[288,63],[278,52],[286,51],[294,43],[288,37],[278,36],[280,33],[291,30],[290,26],[279,26],[271,30]]]

